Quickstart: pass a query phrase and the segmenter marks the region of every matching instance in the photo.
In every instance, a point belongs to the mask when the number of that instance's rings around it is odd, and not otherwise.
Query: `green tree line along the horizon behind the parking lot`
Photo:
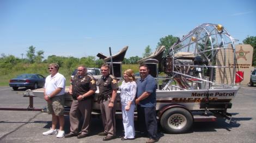
[[[174,37],[172,35],[168,35],[160,38],[160,41],[157,43],[157,47],[166,46],[166,50],[164,51],[164,55],[167,55],[168,48],[171,47],[175,42],[177,42],[178,37]],[[245,40],[243,40],[243,44],[251,44],[253,47],[253,62],[252,65],[256,66],[256,36],[248,36]],[[157,48],[156,47],[156,48]],[[1,69],[11,69],[13,66],[17,64],[36,64],[36,63],[58,63],[60,67],[65,67],[68,69],[74,69],[78,64],[86,64],[88,67],[100,67],[103,63],[102,60],[95,59],[95,56],[87,56],[87,57],[64,57],[64,56],[56,56],[50,55],[45,60],[44,59],[44,51],[35,50],[36,47],[30,46],[26,51],[26,58],[19,59],[14,55],[5,55],[1,54],[0,57],[0,68]],[[141,60],[143,57],[150,56],[152,54],[152,49],[150,46],[145,47],[144,53],[142,57],[132,56],[129,58],[125,58],[123,64],[136,64],[138,60]],[[3,71],[1,71],[3,72]]]

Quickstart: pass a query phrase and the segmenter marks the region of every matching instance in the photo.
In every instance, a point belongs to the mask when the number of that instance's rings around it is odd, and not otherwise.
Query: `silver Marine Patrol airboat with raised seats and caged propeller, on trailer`
[[[111,73],[118,79],[123,75],[121,62],[127,49],[111,57],[97,55],[111,65]],[[227,109],[232,107],[239,90],[238,70],[234,66],[235,40],[222,25],[198,25],[172,47],[161,46],[138,63],[147,64],[158,83],[157,119],[167,133],[184,133],[193,122],[216,121],[217,117],[230,122]],[[166,76],[160,76],[161,72]],[[42,92],[33,91],[35,96],[43,98]],[[99,90],[94,97],[93,111],[100,113],[98,93]],[[71,96],[66,94],[66,106],[71,102]],[[120,102],[117,106],[121,107]]]

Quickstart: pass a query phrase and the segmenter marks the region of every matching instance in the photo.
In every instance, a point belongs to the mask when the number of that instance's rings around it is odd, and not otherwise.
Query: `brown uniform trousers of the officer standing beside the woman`
[[[100,111],[102,117],[102,123],[104,128],[104,132],[107,133],[108,136],[115,135],[115,108],[116,108],[116,100],[114,102],[114,107],[109,108],[110,99],[103,100],[100,102]]]

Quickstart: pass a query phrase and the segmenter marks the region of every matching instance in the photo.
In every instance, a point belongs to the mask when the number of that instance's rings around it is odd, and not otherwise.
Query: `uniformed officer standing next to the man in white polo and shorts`
[[[77,136],[78,139],[88,136],[92,114],[93,94],[96,91],[96,82],[92,75],[87,74],[85,66],[78,66],[77,74],[71,82],[69,93],[72,101],[69,118],[70,133],[65,138]],[[81,133],[78,132],[80,119],[83,118]]]

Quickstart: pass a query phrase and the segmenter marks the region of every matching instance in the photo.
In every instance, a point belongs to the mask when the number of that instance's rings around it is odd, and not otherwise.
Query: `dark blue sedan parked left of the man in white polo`
[[[40,74],[21,74],[9,82],[9,86],[13,87],[14,90],[17,90],[19,87],[37,89],[44,85],[45,77]]]

